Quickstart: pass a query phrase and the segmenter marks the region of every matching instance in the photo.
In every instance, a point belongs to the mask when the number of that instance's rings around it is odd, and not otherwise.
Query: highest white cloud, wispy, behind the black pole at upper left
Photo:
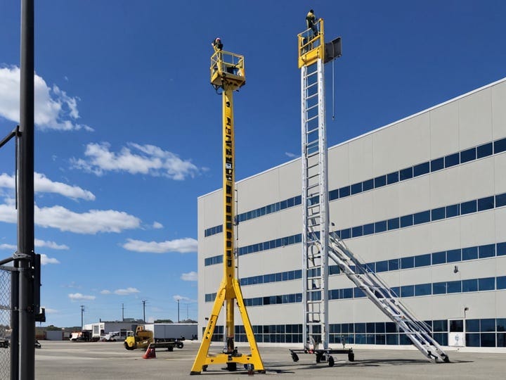
[[[20,120],[20,69],[16,66],[0,68],[0,116]],[[77,123],[77,97],[68,96],[58,86],[48,87],[46,81],[34,75],[34,121],[41,129],[93,129]]]

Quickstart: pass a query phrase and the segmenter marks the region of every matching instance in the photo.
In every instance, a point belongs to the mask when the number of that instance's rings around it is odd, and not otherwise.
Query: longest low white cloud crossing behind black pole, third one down
[[[39,208],[34,206],[35,224],[39,227],[52,227],[60,231],[76,234],[96,234],[98,232],[122,232],[135,229],[141,220],[133,215],[115,210],[89,210],[87,213],[74,213],[62,206]],[[15,223],[15,207],[11,201],[0,205],[0,222]]]

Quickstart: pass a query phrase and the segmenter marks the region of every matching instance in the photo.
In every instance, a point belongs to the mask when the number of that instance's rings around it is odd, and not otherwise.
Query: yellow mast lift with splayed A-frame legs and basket
[[[237,63],[242,70],[240,75],[221,72],[219,68],[229,67],[222,61],[223,56],[232,55],[238,58]],[[227,364],[235,366],[236,363],[253,365],[255,371],[263,372],[264,363],[261,360],[254,338],[253,329],[244,300],[240,290],[239,281],[235,279],[235,257],[234,257],[234,214],[235,214],[235,148],[234,148],[234,123],[233,123],[233,91],[244,85],[244,58],[237,54],[216,51],[211,59],[211,82],[216,88],[223,89],[223,280],[216,293],[214,305],[209,317],[209,322],[202,336],[202,343],[193,362],[190,374],[200,374],[208,365]],[[216,69],[214,69],[216,68]],[[223,75],[225,74],[225,75]],[[238,305],[238,311],[242,317],[246,337],[251,353],[242,355],[234,346],[234,301]],[[226,347],[222,353],[209,355],[212,334],[216,327],[221,307],[226,308]]]

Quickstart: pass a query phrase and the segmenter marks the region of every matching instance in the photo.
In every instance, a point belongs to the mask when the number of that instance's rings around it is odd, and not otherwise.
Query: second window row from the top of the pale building
[[[486,200],[486,201],[484,201]],[[380,232],[385,232],[387,230],[392,229],[401,229],[410,227],[413,224],[427,223],[427,222],[435,222],[436,220],[446,219],[448,217],[455,217],[458,215],[465,215],[469,213],[476,213],[479,211],[488,210],[491,208],[498,208],[506,205],[506,193],[498,194],[496,196],[488,196],[486,198],[475,199],[474,201],[467,201],[463,203],[457,203],[456,205],[448,205],[446,207],[435,208],[433,210],[422,211],[421,213],[415,213],[410,215],[404,215],[402,217],[395,217],[389,220],[382,220],[381,222],[373,222],[369,224],[364,224],[362,226],[356,226],[351,228],[346,228],[342,230],[335,231],[335,234],[338,234],[341,239],[349,239],[351,237],[364,236],[369,234],[378,234]],[[296,234],[292,236],[285,236],[280,239],[274,239],[271,241],[264,241],[261,243],[251,244],[249,246],[244,246],[238,248],[238,255],[246,255],[248,253],[255,253],[259,251],[265,251],[267,249],[278,248],[282,246],[289,246],[291,244],[300,243],[302,239],[301,234]],[[471,257],[474,255],[474,248],[469,247],[469,251],[466,251],[466,257]],[[471,249],[472,248],[472,249]],[[487,248],[484,248],[484,250]],[[502,249],[504,249],[502,247]],[[460,250],[458,250],[460,251]],[[484,253],[485,255],[486,253]],[[429,255],[429,254],[427,254]],[[448,252],[444,253],[446,262],[448,261]],[[450,260],[453,260],[454,256],[458,256],[459,253],[455,251],[455,253],[450,254]],[[412,256],[414,258],[414,256]],[[406,265],[409,265],[408,260],[406,258]],[[419,258],[419,260],[428,260],[428,258],[423,259]],[[441,253],[436,260],[443,260],[443,253]],[[455,260],[457,260],[455,258]],[[465,259],[471,260],[471,259]],[[211,258],[206,258],[204,260],[204,264],[214,265],[219,262],[223,262],[223,257],[213,256]],[[458,261],[458,260],[457,260]],[[437,262],[441,263],[441,262]],[[402,263],[401,263],[402,264]],[[394,264],[392,264],[394,265]],[[415,263],[413,262],[413,266]],[[412,266],[412,267],[413,267]],[[420,265],[421,266],[421,265]],[[399,269],[399,268],[396,268]],[[381,272],[381,271],[380,271]]]

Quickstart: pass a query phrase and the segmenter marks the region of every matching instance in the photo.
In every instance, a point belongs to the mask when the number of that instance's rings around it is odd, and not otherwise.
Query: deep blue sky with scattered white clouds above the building
[[[46,324],[197,318],[197,197],[221,187],[210,42],[245,56],[236,179],[299,156],[296,35],[326,65],[329,145],[506,76],[500,0],[36,2],[36,251]],[[0,0],[0,137],[19,120],[20,1]],[[14,144],[0,149],[0,257],[16,247]],[[295,194],[294,194],[295,195]]]

